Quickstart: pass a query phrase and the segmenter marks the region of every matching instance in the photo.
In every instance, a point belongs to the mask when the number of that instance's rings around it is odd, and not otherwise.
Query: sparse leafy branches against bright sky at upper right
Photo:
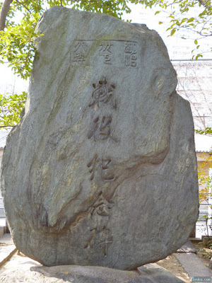
[[[165,11],[170,18],[170,27],[167,31],[170,36],[182,30],[189,30],[196,34],[194,39],[195,49],[192,50],[192,59],[203,57],[199,52],[200,40],[204,37],[212,37],[212,1],[211,0],[132,0],[134,4],[144,4],[146,7],[158,7],[159,11],[155,14]],[[195,16],[196,11],[199,11]],[[188,14],[193,13],[192,17]],[[163,22],[159,22],[163,24]],[[186,37],[182,36],[186,39]],[[208,50],[209,51],[209,50]],[[212,51],[212,47],[211,50]]]

